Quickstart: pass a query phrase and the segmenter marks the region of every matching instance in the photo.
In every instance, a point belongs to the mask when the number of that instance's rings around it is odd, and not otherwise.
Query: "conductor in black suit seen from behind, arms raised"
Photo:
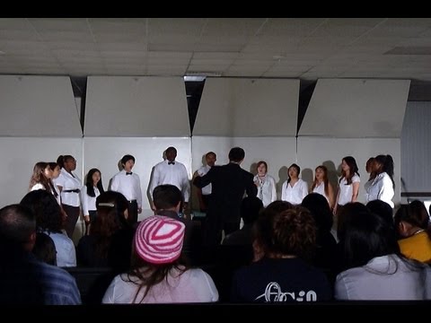
[[[229,152],[229,163],[213,166],[206,175],[193,180],[193,185],[203,188],[212,185],[212,198],[207,208],[204,224],[204,244],[219,245],[222,231],[227,235],[240,229],[241,202],[244,192],[247,196],[256,196],[258,188],[254,185],[251,172],[242,170],[241,162],[245,152],[240,147],[233,147]]]

